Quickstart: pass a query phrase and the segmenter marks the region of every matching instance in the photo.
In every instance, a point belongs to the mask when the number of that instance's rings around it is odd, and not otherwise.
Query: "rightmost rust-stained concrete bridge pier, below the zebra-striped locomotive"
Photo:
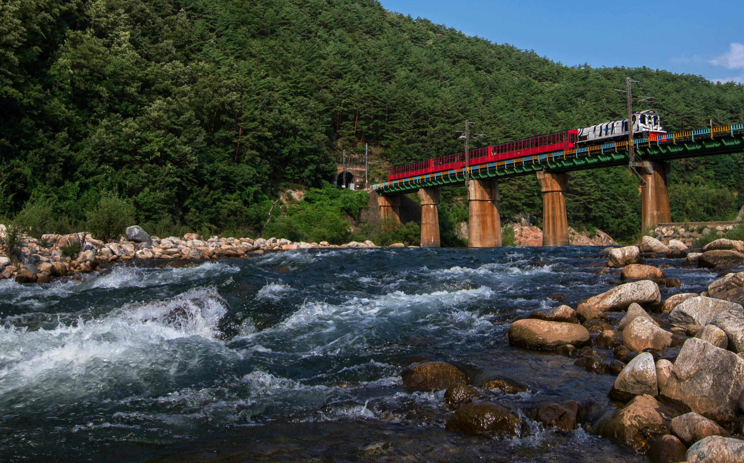
[[[645,185],[641,186],[641,230],[672,221],[667,190],[668,162],[645,161],[641,167]]]

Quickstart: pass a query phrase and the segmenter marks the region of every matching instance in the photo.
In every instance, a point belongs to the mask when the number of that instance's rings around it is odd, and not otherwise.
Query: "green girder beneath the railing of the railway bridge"
[[[744,151],[744,133],[733,133],[731,135],[716,136],[715,138],[701,138],[693,140],[693,137],[684,137],[674,143],[655,144],[651,142],[648,146],[636,147],[636,154],[643,161],[667,161],[670,159],[688,158],[694,156],[712,156],[715,154],[739,153]],[[546,172],[569,172],[571,170],[587,170],[599,167],[612,167],[615,165],[628,165],[629,154],[627,150],[608,150],[604,152],[591,153],[587,155],[567,156],[564,159],[553,159],[544,162],[525,163],[525,165],[512,165],[502,168],[488,168],[473,170],[471,179],[498,179],[502,177],[513,177],[527,175],[537,170]],[[414,193],[420,188],[437,188],[448,185],[459,185],[465,182],[462,174],[453,176],[442,176],[438,179],[410,182],[407,184],[388,185],[377,188],[378,194],[407,194]]]

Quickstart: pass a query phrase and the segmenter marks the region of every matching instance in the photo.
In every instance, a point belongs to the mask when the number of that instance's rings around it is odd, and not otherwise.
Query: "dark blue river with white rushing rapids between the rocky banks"
[[[608,290],[617,275],[586,266],[597,251],[301,250],[0,281],[0,459],[644,461],[530,421],[572,399],[596,419],[614,377],[504,336],[551,296],[575,305]],[[664,272],[685,275],[664,297],[714,277]],[[443,392],[406,392],[398,375],[424,355],[530,386],[495,397],[525,411],[527,435],[445,431]]]

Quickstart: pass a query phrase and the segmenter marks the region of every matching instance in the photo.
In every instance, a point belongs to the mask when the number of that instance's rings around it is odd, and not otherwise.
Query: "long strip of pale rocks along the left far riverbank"
[[[4,236],[0,225],[0,237]],[[347,249],[376,248],[367,240],[364,243],[333,245],[321,243],[292,243],[277,238],[220,238],[202,239],[198,234],[184,237],[158,238],[150,236],[139,226],[130,226],[121,240],[103,243],[89,233],[45,234],[40,240],[24,237],[12,254],[0,248],[0,280],[13,278],[19,283],[48,283],[54,278],[89,273],[100,264],[115,261],[162,259],[219,259],[245,258],[267,251],[289,249]],[[405,247],[395,243],[391,247]],[[10,255],[9,255],[10,254]]]

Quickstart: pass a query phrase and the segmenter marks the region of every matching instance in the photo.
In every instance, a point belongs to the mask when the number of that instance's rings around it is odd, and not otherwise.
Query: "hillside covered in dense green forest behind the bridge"
[[[279,188],[332,180],[343,149],[393,165],[461,149],[465,118],[487,144],[621,118],[627,75],[668,130],[744,121],[740,85],[567,67],[369,0],[9,0],[0,34],[0,217],[44,204],[60,227],[116,194],[141,223],[257,234]],[[622,167],[569,185],[574,226],[638,232]],[[728,218],[743,185],[741,153],[675,162],[673,219]],[[541,215],[533,176],[501,197]]]

